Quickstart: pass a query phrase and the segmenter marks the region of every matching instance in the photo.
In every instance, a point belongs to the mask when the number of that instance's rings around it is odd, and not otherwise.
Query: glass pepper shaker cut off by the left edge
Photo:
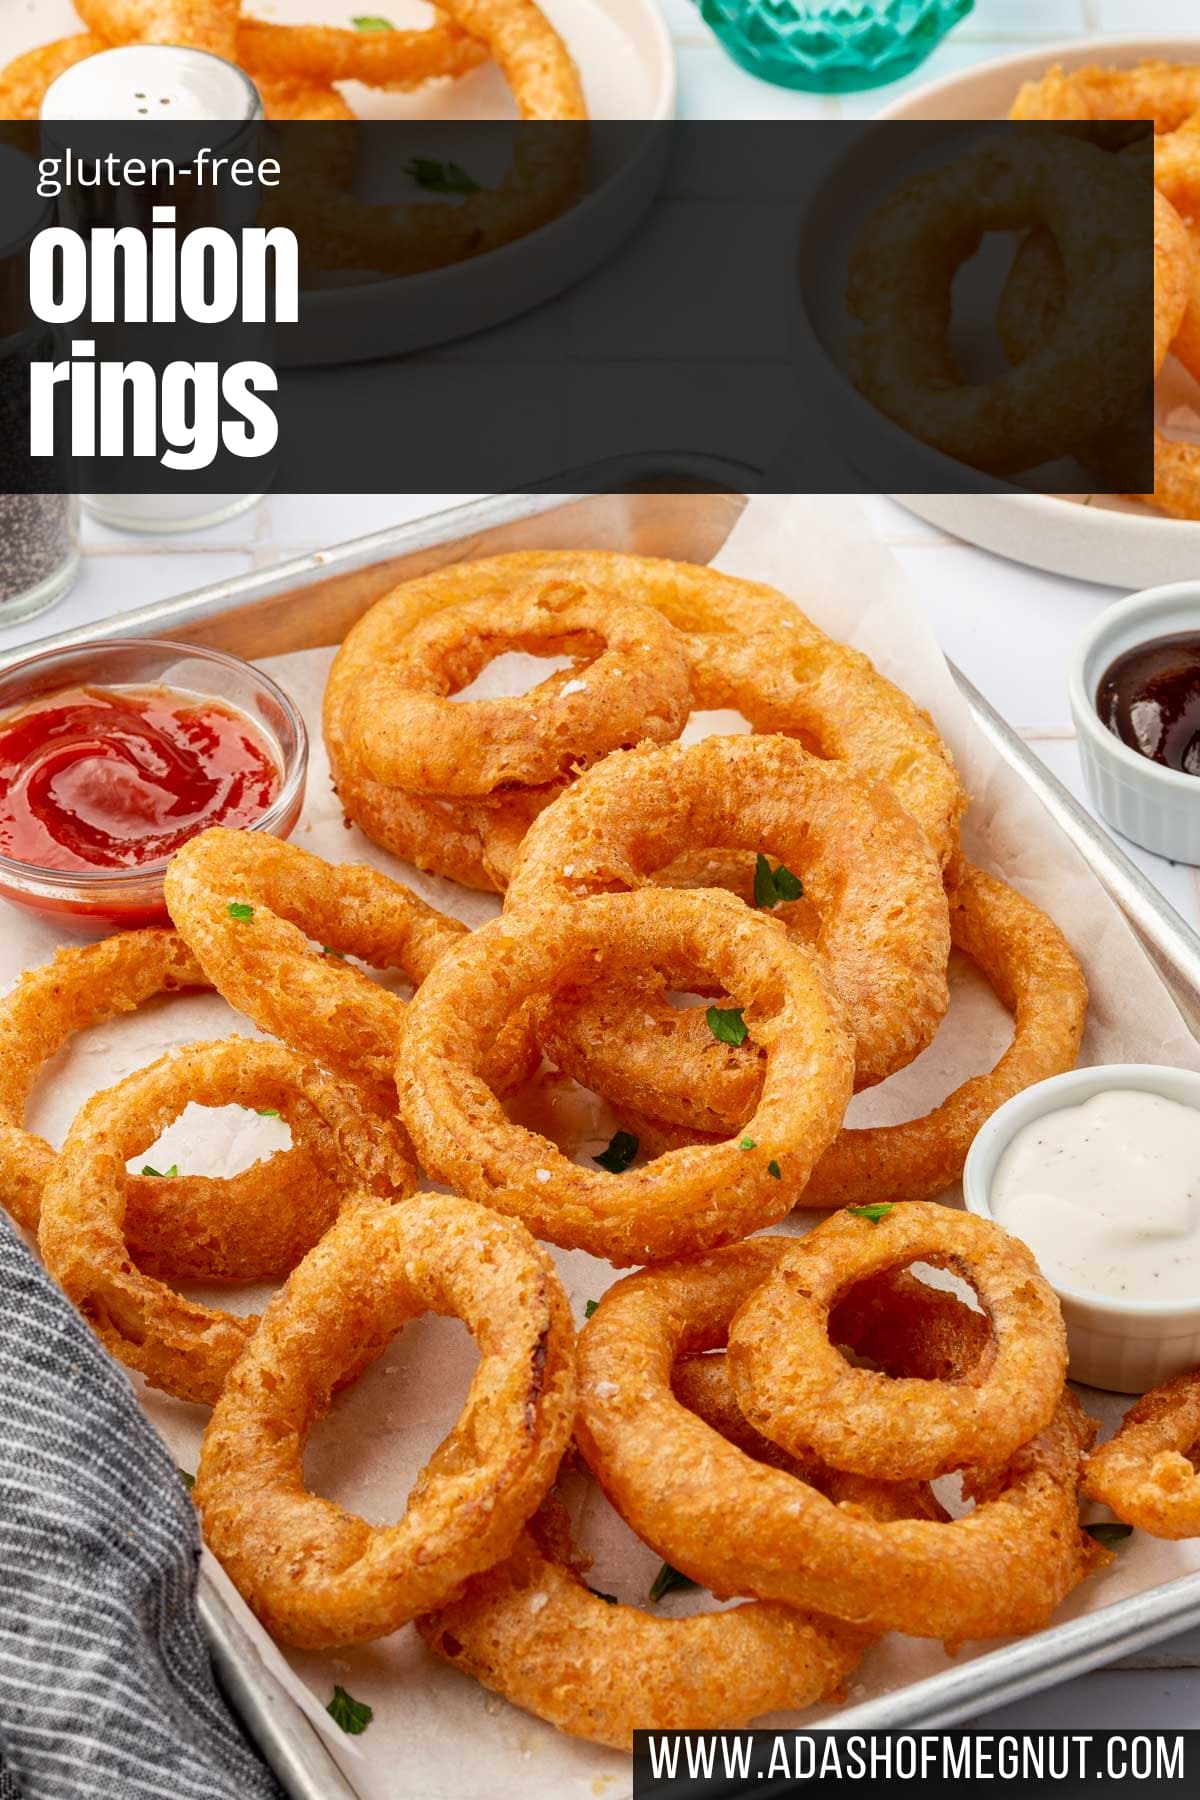
[[[52,221],[29,158],[0,144],[0,630],[45,612],[79,571],[79,500],[32,493],[29,364],[54,355],[54,335],[29,308],[29,245]]]

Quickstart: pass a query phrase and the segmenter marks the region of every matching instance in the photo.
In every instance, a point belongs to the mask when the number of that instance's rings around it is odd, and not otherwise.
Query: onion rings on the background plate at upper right
[[[1069,121],[1070,128],[1060,139],[1007,139],[952,169],[921,173],[864,227],[847,290],[860,322],[855,382],[916,437],[975,468],[1020,473],[1074,455],[1106,493],[1153,504],[1173,518],[1200,518],[1200,445],[1160,427],[1153,430],[1153,491],[1135,491],[1148,466],[1141,455],[1150,430],[1146,394],[1168,353],[1200,380],[1200,63],[1054,67],[1022,85],[1009,119]],[[1101,288],[1112,299],[1110,274],[1097,274],[1097,234],[1105,236],[1132,196],[1121,166],[1139,146],[1117,155],[1074,135],[1090,121],[1148,121],[1155,133],[1153,364],[1132,387],[1137,371],[1114,360],[1130,346],[1112,344],[1101,329],[1088,333],[1085,310]],[[1051,166],[1040,185],[1038,164]],[[1085,203],[1072,205],[1072,193]],[[997,315],[1011,369],[970,385],[950,347],[950,277],[982,230],[1013,225],[1022,239]],[[1126,261],[1130,279],[1137,279],[1135,259]],[[945,281],[930,279],[930,270]],[[1139,310],[1137,297],[1133,304]],[[1061,355],[1063,344],[1087,346],[1097,358],[1092,376],[1078,378],[1079,364]],[[1063,382],[1065,371],[1070,382]],[[1112,401],[1112,416],[1103,419],[1096,407],[1101,392]],[[1079,430],[1081,416],[1087,432]]]

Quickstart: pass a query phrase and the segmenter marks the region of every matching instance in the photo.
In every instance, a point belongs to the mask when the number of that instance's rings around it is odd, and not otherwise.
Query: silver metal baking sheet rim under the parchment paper
[[[736,464],[673,455],[615,461],[588,472],[608,493],[506,495],[434,513],[354,538],[234,581],[196,589],[104,621],[103,635],[180,637],[243,657],[340,643],[396,581],[470,556],[516,549],[615,549],[711,562],[747,504]],[[732,490],[732,491],[730,491]],[[0,655],[0,668],[32,650],[86,643],[95,630],[45,637]],[[979,729],[1022,774],[1054,823],[1123,909],[1200,1039],[1200,936],[1124,851],[1079,806],[1038,756],[959,673]],[[304,1714],[263,1667],[216,1589],[201,1580],[201,1622],[230,1703],[291,1800],[354,1800]],[[1200,1627],[1200,1573],[1132,1595],[1085,1618],[1051,1625],[963,1669],[838,1714],[838,1728],[937,1728],[1002,1706],[1090,1669],[1135,1660],[1187,1627]],[[1195,1645],[1193,1645],[1195,1647]],[[1182,1645],[1175,1667],[1193,1661]],[[1164,1667],[1162,1654],[1150,1658]]]

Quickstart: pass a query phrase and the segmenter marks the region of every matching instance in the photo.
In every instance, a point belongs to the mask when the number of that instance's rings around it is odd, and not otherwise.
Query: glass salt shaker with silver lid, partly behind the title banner
[[[182,45],[130,43],[115,50],[99,50],[50,83],[41,101],[41,137],[47,155],[61,155],[70,139],[70,131],[65,130],[59,142],[56,128],[70,128],[81,119],[157,119],[182,124],[216,121],[228,131],[225,137],[214,137],[212,148],[223,155],[243,155],[243,139],[248,139],[263,119],[263,101],[245,70],[219,56]],[[160,194],[151,185],[121,196],[121,223],[149,229],[151,207],[158,202],[176,207],[180,236],[193,225],[227,223],[212,211],[221,202],[214,200],[210,189],[207,193],[173,189]],[[95,203],[92,193],[85,189],[63,194],[59,202],[63,223],[86,230],[90,223],[99,221],[90,218]],[[119,531],[160,535],[221,524],[245,513],[261,497],[261,488],[254,493],[85,493],[83,504],[94,518]]]

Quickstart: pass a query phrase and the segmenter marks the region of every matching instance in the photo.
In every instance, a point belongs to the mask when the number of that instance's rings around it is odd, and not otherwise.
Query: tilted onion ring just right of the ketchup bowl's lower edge
[[[230,1006],[338,1075],[385,1087],[389,1098],[407,1004],[344,956],[396,968],[416,985],[466,936],[466,925],[378,869],[322,862],[266,832],[219,824],[176,851],[164,895]],[[239,916],[239,907],[250,914]],[[313,940],[338,954],[322,954]],[[507,1085],[529,1075],[533,1060],[516,1022],[488,1069]]]

